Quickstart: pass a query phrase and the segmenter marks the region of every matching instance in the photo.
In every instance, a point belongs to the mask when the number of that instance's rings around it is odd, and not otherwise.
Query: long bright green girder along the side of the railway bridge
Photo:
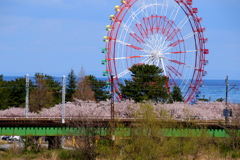
[[[0,135],[19,136],[66,136],[66,135],[98,135],[108,136],[113,133],[116,137],[129,137],[134,128],[74,128],[74,127],[0,127]],[[166,137],[228,137],[225,129],[161,129],[161,134]]]

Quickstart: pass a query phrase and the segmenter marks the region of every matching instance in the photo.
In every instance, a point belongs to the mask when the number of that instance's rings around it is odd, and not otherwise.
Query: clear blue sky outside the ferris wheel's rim
[[[102,37],[120,0],[0,0],[0,74],[102,77]],[[204,79],[240,79],[240,0],[193,0],[206,27]]]

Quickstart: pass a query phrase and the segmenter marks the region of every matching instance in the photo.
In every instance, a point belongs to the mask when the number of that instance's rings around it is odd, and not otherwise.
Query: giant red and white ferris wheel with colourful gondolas
[[[170,87],[178,85],[186,102],[200,93],[209,50],[198,9],[192,0],[122,0],[110,15],[102,53],[104,76],[117,84],[130,79],[131,66],[150,64],[162,68]]]

